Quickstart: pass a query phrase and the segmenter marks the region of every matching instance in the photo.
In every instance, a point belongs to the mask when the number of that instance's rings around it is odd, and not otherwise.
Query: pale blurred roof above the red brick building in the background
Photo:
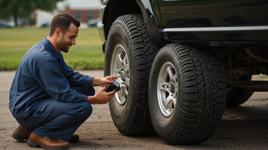
[[[71,10],[96,10],[100,9],[102,3],[100,0],[65,0],[57,3],[59,11],[69,7]]]

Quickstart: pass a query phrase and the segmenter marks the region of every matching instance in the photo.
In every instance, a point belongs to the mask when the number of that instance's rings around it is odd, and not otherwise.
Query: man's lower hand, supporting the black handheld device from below
[[[105,93],[105,87],[101,88],[94,96],[88,96],[86,99],[90,104],[106,104],[115,94],[115,91]]]

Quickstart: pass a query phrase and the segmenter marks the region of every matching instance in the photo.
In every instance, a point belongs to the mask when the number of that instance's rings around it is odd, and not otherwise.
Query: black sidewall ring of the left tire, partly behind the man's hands
[[[129,43],[129,38],[130,35],[127,35],[128,33],[125,32],[126,28],[124,25],[120,22],[115,23],[112,28],[110,29],[110,37],[107,40],[107,45],[106,45],[106,50],[105,50],[105,61],[104,61],[104,76],[110,76],[111,75],[111,62],[112,62],[112,56],[113,56],[113,51],[114,48],[117,45],[122,45],[125,48],[125,52],[128,57],[128,63],[129,63],[129,79],[131,80],[133,76],[133,62],[131,59],[131,54],[130,54],[130,43]],[[126,98],[126,102],[124,105],[120,105],[115,96],[108,102],[109,103],[109,108],[110,108],[110,113],[112,115],[113,121],[117,124],[118,129],[123,129],[127,124],[128,121],[130,120],[130,117],[132,116],[133,112],[133,93],[131,90],[133,89],[132,87],[132,82],[129,81],[129,93]]]

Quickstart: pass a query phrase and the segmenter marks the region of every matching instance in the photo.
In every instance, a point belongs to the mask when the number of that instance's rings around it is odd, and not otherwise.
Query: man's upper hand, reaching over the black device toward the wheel
[[[117,76],[106,76],[104,78],[94,78],[91,86],[108,87],[113,81],[117,80]]]

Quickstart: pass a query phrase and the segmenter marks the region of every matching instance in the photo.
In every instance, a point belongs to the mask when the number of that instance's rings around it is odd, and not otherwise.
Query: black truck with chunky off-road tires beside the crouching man
[[[109,101],[129,136],[156,132],[173,144],[208,140],[225,107],[268,83],[267,0],[104,0],[98,23]]]

